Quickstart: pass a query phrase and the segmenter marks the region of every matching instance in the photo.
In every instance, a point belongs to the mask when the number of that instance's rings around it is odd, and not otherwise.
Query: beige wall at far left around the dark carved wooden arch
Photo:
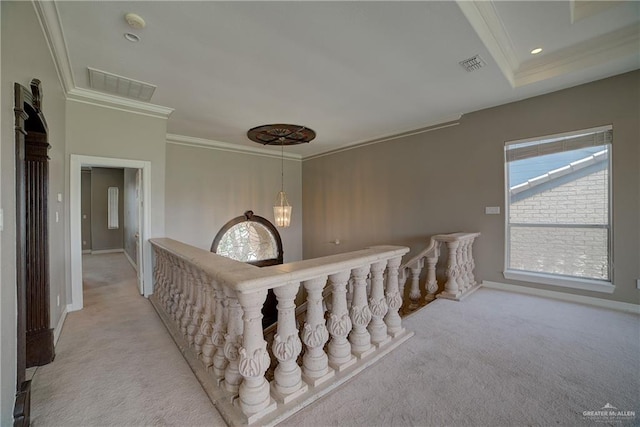
[[[13,83],[29,87],[32,78],[42,82],[43,112],[49,125],[49,266],[51,326],[54,327],[66,300],[63,220],[65,203],[57,194],[66,195],[65,109],[64,96],[31,2],[1,2],[0,79],[1,129],[0,172],[4,230],[0,233],[0,425],[12,425],[16,387],[16,288],[15,288],[15,164]],[[60,222],[56,222],[58,212]],[[60,297],[60,305],[57,298]]]

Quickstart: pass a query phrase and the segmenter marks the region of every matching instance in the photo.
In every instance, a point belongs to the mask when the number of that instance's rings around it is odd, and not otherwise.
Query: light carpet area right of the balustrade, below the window
[[[607,403],[640,423],[637,315],[480,289],[405,326],[404,346],[281,425],[603,425],[583,413]]]

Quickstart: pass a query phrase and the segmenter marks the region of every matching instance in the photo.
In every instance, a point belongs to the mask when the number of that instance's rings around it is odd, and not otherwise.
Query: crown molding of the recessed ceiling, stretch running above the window
[[[638,54],[640,24],[632,24],[524,62],[515,72],[516,87]]]

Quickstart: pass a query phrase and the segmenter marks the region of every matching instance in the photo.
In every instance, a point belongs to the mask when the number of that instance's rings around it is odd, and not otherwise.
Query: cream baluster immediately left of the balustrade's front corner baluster
[[[242,307],[238,303],[234,290],[224,286],[224,294],[228,304],[229,321],[227,323],[227,333],[224,336],[224,356],[228,363],[224,370],[223,387],[225,390],[237,394],[242,382],[242,375],[238,370],[239,351],[243,339]]]

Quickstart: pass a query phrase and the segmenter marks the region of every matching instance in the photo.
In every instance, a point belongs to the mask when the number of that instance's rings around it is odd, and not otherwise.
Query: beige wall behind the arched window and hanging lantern
[[[206,250],[230,219],[253,210],[273,222],[281,160],[167,143],[167,237]],[[291,226],[278,228],[284,261],[302,259],[301,162],[285,160]]]

